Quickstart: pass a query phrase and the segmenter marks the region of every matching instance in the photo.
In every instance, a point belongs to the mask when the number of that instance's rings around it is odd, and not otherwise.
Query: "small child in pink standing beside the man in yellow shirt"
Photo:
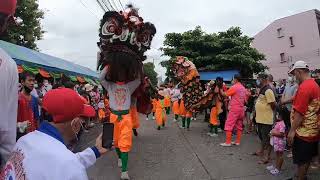
[[[276,164],[275,166],[268,166],[267,169],[273,175],[278,175],[280,173],[283,164],[283,152],[286,147],[285,130],[283,111],[279,110],[276,123],[270,132],[270,144],[273,146],[274,152],[276,153]]]

